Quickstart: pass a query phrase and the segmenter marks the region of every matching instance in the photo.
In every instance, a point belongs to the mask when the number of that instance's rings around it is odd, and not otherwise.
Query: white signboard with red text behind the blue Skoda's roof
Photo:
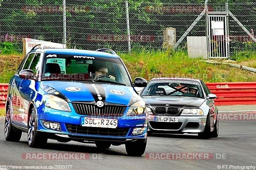
[[[28,52],[31,51],[31,49],[34,46],[36,46],[37,44],[44,45],[44,48],[66,48],[66,45],[64,45],[64,44],[36,40],[36,39],[31,39],[31,38],[23,38],[23,55],[25,56],[26,54],[28,54]],[[37,46],[37,47],[41,48],[41,46]]]

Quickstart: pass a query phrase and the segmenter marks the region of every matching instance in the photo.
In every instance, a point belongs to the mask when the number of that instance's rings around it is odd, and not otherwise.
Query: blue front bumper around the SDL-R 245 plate
[[[111,144],[125,144],[127,142],[145,143],[147,140],[148,117],[146,114],[140,116],[121,117],[101,117],[117,119],[117,128],[95,128],[81,126],[82,117],[96,117],[80,115],[71,107],[71,112],[55,110],[44,105],[37,107],[37,133],[44,135],[49,139],[55,139],[60,142],[78,141],[83,143],[92,143],[97,141],[108,141]],[[125,112],[126,113],[126,112]],[[100,118],[100,117],[97,117]],[[46,128],[42,120],[50,122],[59,122],[61,131]],[[70,129],[70,126],[72,128]],[[134,128],[146,127],[146,130],[140,135],[132,135]],[[81,131],[82,130],[82,131]],[[84,131],[83,131],[84,130]],[[125,132],[124,132],[125,130]],[[115,135],[116,133],[116,135]],[[114,134],[114,135],[113,135]]]

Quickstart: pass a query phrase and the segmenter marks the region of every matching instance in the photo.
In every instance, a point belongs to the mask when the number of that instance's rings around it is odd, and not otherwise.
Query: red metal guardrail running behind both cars
[[[216,94],[216,105],[256,105],[256,82],[205,84]],[[7,90],[8,83],[0,83],[0,108],[5,107]]]

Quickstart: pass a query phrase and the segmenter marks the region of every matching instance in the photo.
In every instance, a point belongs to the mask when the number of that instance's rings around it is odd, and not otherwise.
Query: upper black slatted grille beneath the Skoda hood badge
[[[97,116],[115,116],[120,117],[124,114],[126,106],[108,106],[97,107],[93,104],[74,103],[72,105],[78,114],[82,115],[97,115]]]

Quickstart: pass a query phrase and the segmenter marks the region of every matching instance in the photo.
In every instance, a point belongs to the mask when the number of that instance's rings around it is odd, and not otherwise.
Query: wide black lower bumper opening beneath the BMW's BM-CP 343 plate
[[[149,124],[153,129],[178,130],[178,129],[180,129],[182,122],[153,122],[153,121],[149,121]]]

